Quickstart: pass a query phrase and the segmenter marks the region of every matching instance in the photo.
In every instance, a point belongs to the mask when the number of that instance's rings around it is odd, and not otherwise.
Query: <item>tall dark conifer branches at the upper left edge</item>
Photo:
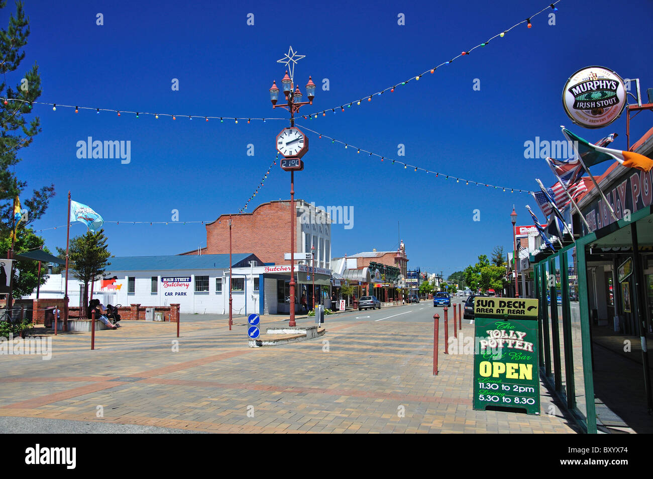
[[[6,0],[0,0],[0,10],[7,5]],[[23,47],[29,37],[29,18],[25,16],[23,4],[16,2],[16,14],[9,16],[7,29],[0,29],[0,237],[9,235],[14,198],[21,197],[27,187],[14,173],[15,166],[20,163],[19,152],[31,144],[35,135],[41,131],[38,116],[33,116],[31,105],[41,94],[39,67],[35,63],[24,74],[15,76],[16,87],[7,84],[10,74],[18,70],[25,58]],[[54,185],[42,186],[33,190],[31,197],[22,198],[21,203],[28,210],[27,217],[20,223],[22,227],[38,220],[48,208],[50,198],[54,196]]]

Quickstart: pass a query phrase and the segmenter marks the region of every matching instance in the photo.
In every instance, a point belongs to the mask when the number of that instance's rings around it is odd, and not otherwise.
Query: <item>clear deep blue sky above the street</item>
[[[7,78],[12,84],[37,62],[40,101],[178,115],[173,121],[33,108],[43,131],[22,151],[16,173],[28,188],[56,186],[48,212],[34,225],[57,226],[40,233],[51,250],[65,246],[65,227],[59,226],[66,222],[68,190],[107,221],[168,221],[179,210],[180,223],[106,223],[116,256],[178,254],[206,245],[204,226],[181,223],[238,212],[272,163],[274,139],[287,122],[221,124],[183,115],[286,117],[285,110],[272,110],[268,88],[283,76],[276,60],[289,45],[306,55],[295,69],[302,92],[309,74],[318,86],[313,106],[302,113],[321,112],[447,61],[547,2],[295,3],[291,20],[279,2],[189,5],[25,1],[31,36],[22,68]],[[626,148],[625,114],[596,131],[572,125],[561,101],[572,73],[602,65],[622,78],[641,78],[644,94],[653,87],[653,64],[645,61],[650,32],[633,27],[635,21],[650,25],[650,0],[629,1],[626,9],[607,0],[563,0],[557,7],[555,25],[548,24],[549,9],[532,20],[532,28],[520,25],[419,82],[298,124],[430,171],[522,190],[533,190],[536,177],[552,184],[543,160],[524,158],[525,141],[562,140],[559,125],[567,125],[588,140],[615,131],[620,136],[614,147]],[[0,11],[5,25],[10,10]],[[97,13],[104,25],[96,25]],[[249,13],[253,26],[247,25]],[[405,25],[398,25],[400,13]],[[172,91],[172,78],[178,78],[179,91]],[[328,91],[321,88],[324,78]],[[643,112],[631,124],[633,137],[650,126],[650,114]],[[131,141],[131,163],[78,159],[76,143],[88,137]],[[248,144],[254,156],[247,156]],[[405,145],[405,157],[398,156],[398,144]],[[353,206],[353,228],[332,228],[334,257],[394,250],[400,222],[409,267],[449,274],[495,245],[511,250],[513,203],[518,224],[530,224],[524,205],[535,206],[530,195],[415,173],[313,134],[304,163],[296,174],[296,198]],[[289,174],[277,165],[247,209],[287,199],[289,189]],[[475,209],[479,222],[473,221]],[[71,235],[84,231],[79,223],[71,227]]]

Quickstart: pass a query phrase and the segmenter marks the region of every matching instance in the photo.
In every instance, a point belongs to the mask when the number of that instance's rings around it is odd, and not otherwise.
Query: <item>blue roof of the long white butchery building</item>
[[[232,267],[249,266],[249,261],[263,263],[251,253],[232,254]],[[174,255],[174,256],[122,256],[109,258],[106,273],[114,271],[162,271],[176,269],[229,268],[228,254]],[[105,274],[106,274],[105,273]]]

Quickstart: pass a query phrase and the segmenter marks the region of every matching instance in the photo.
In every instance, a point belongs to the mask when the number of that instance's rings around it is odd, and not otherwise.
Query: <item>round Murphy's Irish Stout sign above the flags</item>
[[[574,123],[586,128],[607,126],[626,107],[624,80],[610,69],[586,67],[569,77],[562,103]]]

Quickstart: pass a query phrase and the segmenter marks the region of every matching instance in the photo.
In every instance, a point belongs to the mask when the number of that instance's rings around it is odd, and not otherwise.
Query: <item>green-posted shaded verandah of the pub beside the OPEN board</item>
[[[652,214],[646,206],[532,258],[535,295],[548,305],[540,308],[542,377],[588,433],[653,432]]]

